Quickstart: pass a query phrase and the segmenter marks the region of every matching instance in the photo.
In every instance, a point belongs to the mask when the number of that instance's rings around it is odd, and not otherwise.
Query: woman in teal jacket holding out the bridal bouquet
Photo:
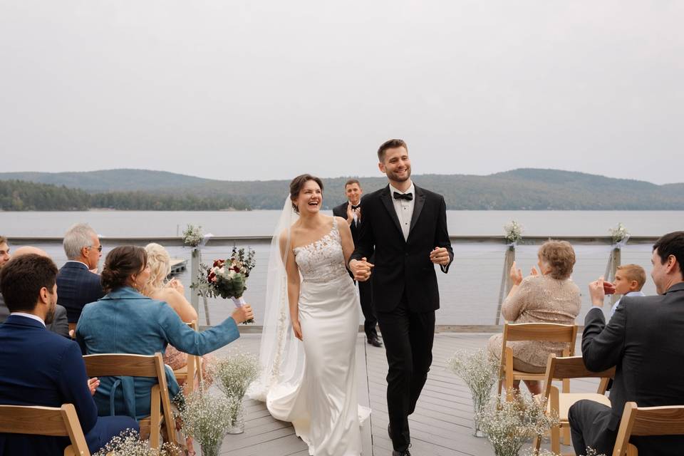
[[[253,316],[251,306],[244,306],[218,326],[197,333],[171,306],[140,293],[149,279],[145,249],[121,246],[109,252],[102,271],[107,294],[86,304],[76,326],[76,341],[83,353],[153,355],[164,353],[170,343],[185,353],[201,356],[239,338],[237,323]],[[167,380],[174,397],[180,389],[169,368]],[[95,393],[100,415],[145,418],[150,415],[150,388],[155,383],[153,378],[101,378]]]

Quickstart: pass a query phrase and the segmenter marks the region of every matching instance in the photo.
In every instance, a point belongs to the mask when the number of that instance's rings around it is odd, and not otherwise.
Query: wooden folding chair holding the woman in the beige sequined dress
[[[514,371],[513,349],[507,346],[512,341],[547,341],[564,342],[568,348],[563,356],[573,356],[575,353],[575,339],[577,325],[561,325],[559,323],[506,323],[501,348],[501,368],[499,369],[499,395],[502,384],[506,385],[506,398],[513,398],[514,380],[539,380],[546,378],[546,373],[529,373]],[[570,380],[563,380],[563,392],[570,392]]]

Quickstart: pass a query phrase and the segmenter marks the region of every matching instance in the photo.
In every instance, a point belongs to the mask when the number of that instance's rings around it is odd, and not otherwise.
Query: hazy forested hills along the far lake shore
[[[343,202],[347,179],[323,179],[325,207]],[[387,185],[383,177],[359,180],[365,192]],[[528,168],[487,176],[415,175],[413,181],[444,195],[448,209],[684,210],[684,184],[655,185],[581,172]],[[288,184],[149,170],[10,172],[0,173],[0,209],[280,209]]]

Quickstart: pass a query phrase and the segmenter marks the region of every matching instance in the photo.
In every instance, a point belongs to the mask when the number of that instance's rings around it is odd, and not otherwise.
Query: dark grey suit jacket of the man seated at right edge
[[[621,299],[608,325],[603,312],[586,314],[586,367],[598,372],[616,366],[608,429],[617,430],[625,403],[631,400],[639,407],[684,404],[683,334],[684,283],[661,296]]]

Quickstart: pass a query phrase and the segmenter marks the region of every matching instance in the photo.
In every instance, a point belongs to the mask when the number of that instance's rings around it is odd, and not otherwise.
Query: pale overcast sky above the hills
[[[684,182],[684,2],[0,0],[4,171]]]

